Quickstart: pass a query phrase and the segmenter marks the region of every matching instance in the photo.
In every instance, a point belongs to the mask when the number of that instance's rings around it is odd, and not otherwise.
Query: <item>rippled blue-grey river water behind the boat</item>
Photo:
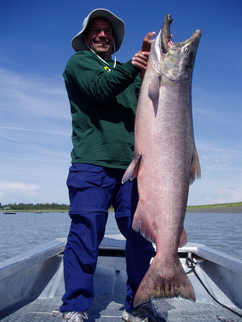
[[[0,213],[0,261],[58,237],[67,237],[68,213]],[[184,227],[188,242],[204,244],[242,260],[242,214],[187,213]],[[106,234],[120,233],[114,213],[109,213]]]

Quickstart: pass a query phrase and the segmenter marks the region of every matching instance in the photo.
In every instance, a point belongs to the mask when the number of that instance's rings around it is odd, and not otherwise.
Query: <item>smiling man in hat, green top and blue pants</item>
[[[72,40],[76,51],[64,79],[72,114],[72,166],[67,186],[72,219],[64,252],[66,292],[63,321],[83,321],[91,306],[98,246],[113,205],[120,232],[126,238],[126,321],[161,321],[151,302],[133,307],[133,299],[148,270],[154,248],[132,229],[138,202],[137,183],[121,184],[133,158],[134,120],[151,37],[132,60],[112,60],[124,38],[124,22],[105,9],[92,11]]]

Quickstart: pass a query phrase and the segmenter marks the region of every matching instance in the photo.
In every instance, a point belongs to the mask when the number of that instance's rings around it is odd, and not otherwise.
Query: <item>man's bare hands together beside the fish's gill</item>
[[[156,34],[155,32],[147,33],[147,35],[143,39],[141,50],[135,54],[135,57],[132,58],[132,63],[141,69],[141,72],[139,74],[141,80],[143,80],[145,75],[146,66],[149,58],[150,47],[153,42],[151,38],[155,34]]]

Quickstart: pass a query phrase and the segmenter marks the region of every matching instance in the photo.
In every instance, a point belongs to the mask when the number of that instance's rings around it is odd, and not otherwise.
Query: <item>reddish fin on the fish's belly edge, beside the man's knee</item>
[[[140,232],[141,236],[143,236],[147,241],[155,242],[154,229],[152,229],[150,222],[148,221],[144,206],[140,201],[137,204],[132,227],[136,232]]]

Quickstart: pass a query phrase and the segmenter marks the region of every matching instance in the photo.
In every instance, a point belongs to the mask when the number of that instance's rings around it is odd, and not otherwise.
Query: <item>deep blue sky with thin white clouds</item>
[[[106,8],[124,20],[126,62],[171,14],[173,42],[202,30],[193,73],[201,180],[188,205],[242,201],[241,9],[230,1],[3,0],[0,5],[0,202],[69,204],[71,116],[62,73],[84,18]]]

